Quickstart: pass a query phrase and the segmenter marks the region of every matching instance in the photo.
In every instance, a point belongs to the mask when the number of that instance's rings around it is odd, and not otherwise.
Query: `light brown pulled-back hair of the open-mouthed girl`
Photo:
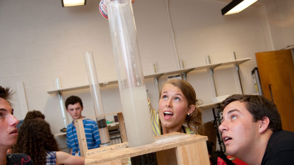
[[[187,126],[193,130],[196,134],[203,134],[204,133],[204,125],[202,123],[202,112],[200,108],[196,107],[196,92],[192,85],[188,83],[187,81],[180,80],[180,79],[168,79],[166,82],[163,83],[161,86],[161,90],[159,93],[159,98],[162,94],[162,88],[166,84],[171,84],[175,87],[178,87],[183,94],[185,95],[188,106],[195,105],[195,110],[191,115],[187,115],[185,123]]]

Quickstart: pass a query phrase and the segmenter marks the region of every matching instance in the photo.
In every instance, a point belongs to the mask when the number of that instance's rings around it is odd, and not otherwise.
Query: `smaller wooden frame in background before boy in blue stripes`
[[[123,143],[127,142],[126,128],[125,128],[125,123],[123,120],[123,113],[122,112],[113,112],[113,113],[109,113],[109,114],[105,114],[105,115],[98,115],[98,116],[86,117],[83,119],[76,119],[75,120],[76,135],[78,137],[78,146],[80,147],[81,156],[85,156],[86,151],[88,150],[83,120],[107,116],[107,115],[113,115],[113,114],[117,114],[117,116],[118,116],[118,124],[119,124],[120,133],[121,133],[121,141]]]

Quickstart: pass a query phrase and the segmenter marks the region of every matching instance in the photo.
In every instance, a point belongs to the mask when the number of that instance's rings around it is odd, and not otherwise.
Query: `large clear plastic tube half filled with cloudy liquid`
[[[107,4],[129,147],[154,142],[131,1]]]

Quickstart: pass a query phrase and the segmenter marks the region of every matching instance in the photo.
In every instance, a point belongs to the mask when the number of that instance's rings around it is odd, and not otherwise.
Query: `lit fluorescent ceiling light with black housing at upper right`
[[[223,9],[221,9],[222,15],[236,14],[240,13],[244,9],[248,8],[250,5],[254,4],[258,0],[233,0]]]

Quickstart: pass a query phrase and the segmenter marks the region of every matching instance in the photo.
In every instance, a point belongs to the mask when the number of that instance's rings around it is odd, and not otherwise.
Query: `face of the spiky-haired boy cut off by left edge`
[[[9,149],[17,140],[16,125],[19,121],[13,116],[13,108],[8,101],[0,98],[0,147]]]

